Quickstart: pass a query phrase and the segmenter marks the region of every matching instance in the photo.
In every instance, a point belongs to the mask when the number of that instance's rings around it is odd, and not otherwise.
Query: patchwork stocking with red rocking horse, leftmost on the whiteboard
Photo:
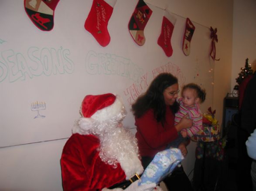
[[[24,0],[24,7],[35,26],[50,31],[54,25],[54,11],[58,2],[59,0]]]

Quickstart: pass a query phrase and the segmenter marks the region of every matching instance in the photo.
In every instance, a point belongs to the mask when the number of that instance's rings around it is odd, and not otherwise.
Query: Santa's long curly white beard
[[[116,167],[119,163],[128,180],[137,173],[142,174],[143,167],[139,159],[139,149],[135,136],[123,127],[113,127],[99,137],[101,146],[99,156],[102,161]]]

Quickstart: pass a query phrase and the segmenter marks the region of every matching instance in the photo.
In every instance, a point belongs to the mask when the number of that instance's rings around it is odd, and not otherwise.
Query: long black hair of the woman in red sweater
[[[154,110],[154,117],[157,122],[162,124],[165,121],[166,105],[164,102],[164,90],[176,84],[177,78],[171,73],[160,73],[150,84],[147,92],[140,95],[136,102],[132,105],[133,115],[140,118],[148,109]],[[178,110],[178,103],[174,102],[171,105],[171,110],[176,113]]]

